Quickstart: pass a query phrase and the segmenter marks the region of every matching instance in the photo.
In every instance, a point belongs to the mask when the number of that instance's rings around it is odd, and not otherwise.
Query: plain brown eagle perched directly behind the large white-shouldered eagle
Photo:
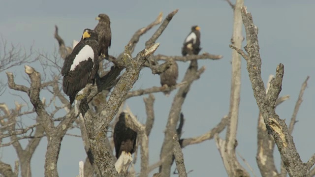
[[[108,48],[112,42],[109,17],[106,14],[99,14],[95,20],[98,20],[98,24],[94,29],[98,33],[98,56],[108,57]]]

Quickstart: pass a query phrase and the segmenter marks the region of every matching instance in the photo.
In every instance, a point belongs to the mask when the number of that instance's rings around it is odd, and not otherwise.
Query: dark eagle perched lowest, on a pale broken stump
[[[126,126],[126,118],[128,114],[122,112],[119,115],[119,120],[114,127],[114,144],[117,159],[123,151],[132,154],[135,151],[137,132]]]

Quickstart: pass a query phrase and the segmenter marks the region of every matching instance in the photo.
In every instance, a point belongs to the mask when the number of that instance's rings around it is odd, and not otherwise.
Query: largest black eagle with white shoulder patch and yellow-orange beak
[[[84,29],[80,42],[63,62],[63,92],[69,96],[70,104],[76,94],[87,84],[94,84],[98,70],[98,34],[95,30]]]

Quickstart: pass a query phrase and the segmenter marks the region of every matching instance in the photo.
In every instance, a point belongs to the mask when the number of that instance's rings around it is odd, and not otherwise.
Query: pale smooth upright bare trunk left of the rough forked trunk
[[[242,47],[242,16],[241,6],[244,0],[236,0],[234,6],[233,35],[231,42],[238,48]],[[237,147],[237,126],[239,118],[239,105],[241,93],[241,56],[235,50],[232,50],[232,79],[230,92],[229,120],[227,125],[225,140],[217,138],[217,147],[221,153],[223,164],[228,176],[250,176],[246,169],[240,164],[236,157]]]

